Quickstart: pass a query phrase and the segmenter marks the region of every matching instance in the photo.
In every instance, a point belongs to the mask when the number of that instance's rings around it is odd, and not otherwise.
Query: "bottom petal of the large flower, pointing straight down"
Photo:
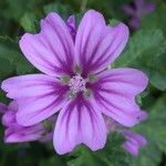
[[[92,151],[102,148],[106,142],[106,126],[94,103],[77,97],[65,105],[58,117],[54,131],[54,148],[59,154],[74,149],[81,143]]]

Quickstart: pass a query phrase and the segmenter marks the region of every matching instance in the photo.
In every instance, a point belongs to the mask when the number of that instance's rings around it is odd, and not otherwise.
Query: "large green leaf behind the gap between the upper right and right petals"
[[[147,73],[149,82],[166,90],[166,40],[160,30],[139,30],[129,40],[114,66],[133,66]]]

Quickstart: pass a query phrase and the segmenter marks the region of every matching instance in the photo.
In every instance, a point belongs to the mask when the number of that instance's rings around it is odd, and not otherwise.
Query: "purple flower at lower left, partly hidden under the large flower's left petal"
[[[48,129],[44,124],[39,123],[32,126],[21,126],[17,120],[18,104],[11,102],[3,110],[2,124],[6,126],[4,142],[20,143],[32,141],[50,141],[52,139],[52,131]],[[46,123],[46,122],[45,122]],[[52,123],[49,121],[49,123]]]

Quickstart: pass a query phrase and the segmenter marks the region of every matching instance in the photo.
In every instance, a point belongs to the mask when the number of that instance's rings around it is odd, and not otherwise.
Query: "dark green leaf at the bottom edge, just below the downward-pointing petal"
[[[107,137],[106,146],[97,152],[92,152],[85,146],[80,146],[71,154],[75,159],[69,166],[128,166],[128,155],[121,147],[124,138],[116,133]]]

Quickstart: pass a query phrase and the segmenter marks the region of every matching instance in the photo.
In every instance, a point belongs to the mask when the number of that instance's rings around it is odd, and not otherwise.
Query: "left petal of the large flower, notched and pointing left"
[[[29,74],[6,80],[2,89],[17,100],[18,122],[23,126],[37,124],[58,112],[66,98],[69,87],[44,74]]]

